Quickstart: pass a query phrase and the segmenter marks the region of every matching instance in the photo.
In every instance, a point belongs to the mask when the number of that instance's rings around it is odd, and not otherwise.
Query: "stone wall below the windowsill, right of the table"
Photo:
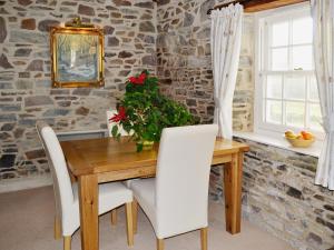
[[[333,249],[334,191],[314,184],[317,158],[236,140],[250,148],[244,161],[244,216],[295,249]],[[217,198],[222,187],[215,183]]]

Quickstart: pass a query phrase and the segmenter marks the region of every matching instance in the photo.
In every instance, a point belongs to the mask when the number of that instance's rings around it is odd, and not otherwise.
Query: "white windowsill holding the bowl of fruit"
[[[315,141],[311,147],[308,148],[294,148],[292,147],[283,137],[282,138],[273,138],[265,134],[259,134],[255,132],[240,132],[240,131],[234,131],[234,137],[238,137],[242,139],[273,146],[281,149],[291,150],[294,152],[312,156],[312,157],[320,157],[321,149],[322,149],[322,141]]]

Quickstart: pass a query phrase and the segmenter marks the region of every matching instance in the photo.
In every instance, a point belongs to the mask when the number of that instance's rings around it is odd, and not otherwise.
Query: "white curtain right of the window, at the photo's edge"
[[[315,183],[334,190],[334,37],[333,0],[312,0],[314,61],[325,140],[318,158]]]

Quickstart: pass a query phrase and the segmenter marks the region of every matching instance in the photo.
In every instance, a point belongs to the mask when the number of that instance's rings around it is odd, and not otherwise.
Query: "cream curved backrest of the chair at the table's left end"
[[[42,121],[38,121],[36,128],[46,151],[53,179],[57,212],[62,218],[65,213],[69,214],[75,200],[63,152],[51,127]]]

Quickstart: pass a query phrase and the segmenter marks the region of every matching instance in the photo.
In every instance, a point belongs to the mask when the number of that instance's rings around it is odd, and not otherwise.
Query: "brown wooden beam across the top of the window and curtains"
[[[283,6],[291,6],[295,3],[306,2],[310,0],[235,0],[227,3],[222,3],[215,6],[214,8],[207,11],[207,14],[210,14],[213,10],[223,9],[229,4],[239,3],[244,7],[245,12],[257,12],[261,10],[275,9]]]

